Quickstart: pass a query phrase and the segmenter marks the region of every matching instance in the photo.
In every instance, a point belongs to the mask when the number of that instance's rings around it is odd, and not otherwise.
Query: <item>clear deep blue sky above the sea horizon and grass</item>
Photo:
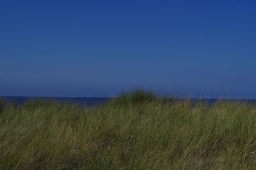
[[[253,1],[0,1],[0,94],[256,99]]]

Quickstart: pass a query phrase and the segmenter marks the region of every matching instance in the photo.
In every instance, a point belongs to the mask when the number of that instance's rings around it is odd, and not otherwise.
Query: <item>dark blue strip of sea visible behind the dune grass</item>
[[[15,103],[22,105],[26,101],[36,99],[38,97],[14,97],[4,96],[7,101],[15,101]],[[97,104],[104,104],[108,101],[109,97],[40,97],[42,99],[56,99],[58,101],[65,101],[69,103],[83,104],[85,106],[95,106]],[[214,104],[217,100],[228,101],[244,101],[246,103],[256,104],[256,99],[191,99],[192,103],[196,101],[206,101],[209,104]]]

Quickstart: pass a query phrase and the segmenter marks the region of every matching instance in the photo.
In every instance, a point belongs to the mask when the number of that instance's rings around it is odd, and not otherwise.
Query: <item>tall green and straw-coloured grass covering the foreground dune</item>
[[[0,100],[0,169],[255,169],[256,106],[143,89],[102,106]]]

